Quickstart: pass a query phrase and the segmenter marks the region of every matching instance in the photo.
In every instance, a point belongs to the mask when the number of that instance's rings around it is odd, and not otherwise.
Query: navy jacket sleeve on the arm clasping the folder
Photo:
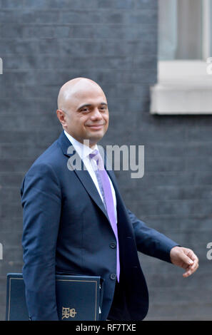
[[[21,185],[23,277],[31,320],[58,320],[55,293],[56,240],[61,188],[51,166],[32,165]]]

